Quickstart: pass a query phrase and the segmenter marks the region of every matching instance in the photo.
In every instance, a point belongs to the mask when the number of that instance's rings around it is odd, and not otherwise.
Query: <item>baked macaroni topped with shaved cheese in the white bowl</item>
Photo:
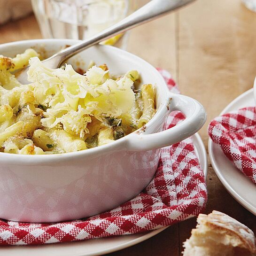
[[[15,72],[30,64],[22,85]],[[81,72],[79,72],[81,73]],[[0,152],[57,154],[84,150],[136,131],[155,114],[153,85],[138,71],[120,77],[107,65],[79,74],[71,65],[49,69],[27,49],[14,58],[0,55]]]

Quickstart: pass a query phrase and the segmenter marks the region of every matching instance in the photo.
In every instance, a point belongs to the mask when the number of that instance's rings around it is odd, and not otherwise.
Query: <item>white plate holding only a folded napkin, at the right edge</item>
[[[253,89],[237,97],[220,115],[249,106],[255,106]],[[221,148],[211,139],[208,148],[212,167],[227,191],[243,207],[256,215],[256,185],[229,161]]]

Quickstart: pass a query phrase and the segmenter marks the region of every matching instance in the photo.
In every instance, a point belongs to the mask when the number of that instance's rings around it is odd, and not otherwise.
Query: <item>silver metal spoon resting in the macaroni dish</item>
[[[116,34],[139,26],[142,23],[146,23],[148,21],[154,20],[155,18],[166,15],[172,10],[180,8],[192,1],[194,0],[151,0],[149,3],[138,9],[136,12],[124,18],[122,21],[116,23],[115,25],[109,27],[104,31],[101,31],[100,33],[89,39],[83,40],[78,44],[63,49],[62,51],[52,55],[43,62],[47,67],[56,69],[62,66],[62,64],[64,64],[70,57],[78,54],[86,48],[89,48]],[[17,77],[17,79],[22,84],[29,83],[27,80],[28,69],[29,66],[25,67]]]

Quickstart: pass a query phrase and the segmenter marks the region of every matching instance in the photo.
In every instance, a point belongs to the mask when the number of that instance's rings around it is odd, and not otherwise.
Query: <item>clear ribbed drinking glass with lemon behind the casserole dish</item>
[[[124,19],[135,0],[31,0],[44,38],[87,39]],[[126,48],[127,32],[108,40]]]

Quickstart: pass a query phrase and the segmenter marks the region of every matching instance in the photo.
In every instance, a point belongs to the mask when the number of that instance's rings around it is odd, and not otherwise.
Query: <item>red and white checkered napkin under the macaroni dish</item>
[[[173,92],[175,82],[159,70]],[[168,127],[182,121],[172,113]],[[68,242],[145,232],[198,215],[207,201],[204,175],[191,139],[162,149],[154,179],[131,201],[116,209],[74,221],[30,224],[0,220],[0,245]]]

